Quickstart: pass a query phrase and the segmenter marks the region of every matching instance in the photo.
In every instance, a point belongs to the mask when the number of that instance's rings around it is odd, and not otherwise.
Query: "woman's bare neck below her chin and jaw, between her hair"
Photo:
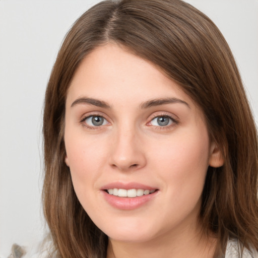
[[[194,232],[195,231],[195,232]],[[188,228],[177,234],[162,234],[145,242],[122,242],[109,239],[107,258],[212,258],[216,238]]]

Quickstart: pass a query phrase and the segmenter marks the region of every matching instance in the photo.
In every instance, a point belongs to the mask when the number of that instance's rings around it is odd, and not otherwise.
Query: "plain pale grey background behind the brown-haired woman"
[[[64,35],[99,1],[0,0],[0,257],[43,238],[42,107]],[[189,0],[220,28],[258,118],[258,1]]]

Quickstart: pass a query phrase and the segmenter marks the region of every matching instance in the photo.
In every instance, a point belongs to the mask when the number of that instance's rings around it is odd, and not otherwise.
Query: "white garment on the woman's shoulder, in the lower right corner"
[[[243,253],[241,256],[242,245],[237,239],[228,239],[225,258],[258,258],[258,252],[251,248],[243,248]]]

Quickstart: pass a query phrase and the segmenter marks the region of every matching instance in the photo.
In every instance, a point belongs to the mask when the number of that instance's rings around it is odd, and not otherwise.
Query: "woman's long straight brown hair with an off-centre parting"
[[[83,58],[114,43],[155,64],[203,110],[224,165],[209,167],[202,195],[203,231],[258,249],[257,132],[231,50],[216,25],[180,0],[101,2],[66,35],[46,89],[43,135],[44,214],[58,257],[106,257],[108,237],[79,203],[64,163],[67,91]]]

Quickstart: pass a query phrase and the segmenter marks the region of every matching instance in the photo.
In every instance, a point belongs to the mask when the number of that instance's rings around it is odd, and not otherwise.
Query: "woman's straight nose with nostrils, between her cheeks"
[[[146,165],[140,134],[133,128],[122,128],[113,136],[110,165],[120,171],[134,171]]]

